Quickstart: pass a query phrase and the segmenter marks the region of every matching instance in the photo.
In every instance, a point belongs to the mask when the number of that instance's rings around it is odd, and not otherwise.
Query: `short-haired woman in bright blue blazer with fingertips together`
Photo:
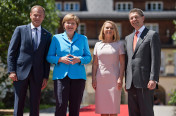
[[[53,36],[47,56],[47,61],[55,64],[55,116],[66,116],[68,103],[70,116],[79,116],[86,80],[84,64],[91,61],[91,53],[87,37],[76,32],[77,16],[67,14],[62,25],[65,32]]]

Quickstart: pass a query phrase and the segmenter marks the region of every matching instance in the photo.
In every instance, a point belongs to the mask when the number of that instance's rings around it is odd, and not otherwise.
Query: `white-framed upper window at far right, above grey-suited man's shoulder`
[[[163,3],[162,2],[146,2],[145,9],[147,11],[162,11]]]

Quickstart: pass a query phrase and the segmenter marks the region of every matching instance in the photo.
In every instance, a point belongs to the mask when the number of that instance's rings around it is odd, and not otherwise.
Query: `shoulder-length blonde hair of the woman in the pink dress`
[[[100,34],[98,36],[99,40],[102,40],[104,41],[105,40],[105,36],[104,36],[104,27],[105,27],[105,24],[106,23],[110,23],[112,25],[112,27],[114,28],[114,35],[113,35],[113,41],[118,41],[120,40],[120,36],[119,36],[119,32],[118,32],[118,29],[117,29],[117,26],[116,24],[113,22],[113,21],[105,21],[103,26],[101,27],[101,31],[100,31]]]

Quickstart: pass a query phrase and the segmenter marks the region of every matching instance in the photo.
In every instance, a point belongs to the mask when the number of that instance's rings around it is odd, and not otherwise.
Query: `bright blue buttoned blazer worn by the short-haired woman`
[[[68,54],[79,57],[81,63],[76,63],[74,65],[67,65],[62,62],[58,63],[60,57],[66,56]],[[53,80],[63,79],[67,75],[71,79],[86,80],[84,64],[88,64],[91,59],[92,57],[86,36],[75,32],[72,42],[68,40],[66,32],[53,36],[47,55],[47,61],[55,64]]]

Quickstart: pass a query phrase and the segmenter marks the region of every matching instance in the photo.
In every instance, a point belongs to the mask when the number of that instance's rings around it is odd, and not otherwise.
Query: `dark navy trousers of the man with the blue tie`
[[[39,116],[39,105],[42,82],[36,82],[31,69],[25,80],[13,82],[14,85],[14,116],[23,116],[24,103],[27,89],[29,87],[30,116]]]

